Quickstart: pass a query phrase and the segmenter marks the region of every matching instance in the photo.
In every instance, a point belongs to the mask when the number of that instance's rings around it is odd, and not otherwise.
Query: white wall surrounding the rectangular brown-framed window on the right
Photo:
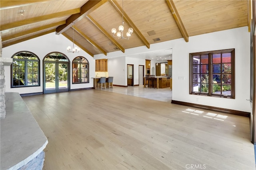
[[[172,42],[172,100],[250,112],[250,33],[240,27]],[[189,94],[189,53],[235,49],[235,99]],[[182,77],[184,79],[179,79]],[[197,102],[198,100],[198,102]]]

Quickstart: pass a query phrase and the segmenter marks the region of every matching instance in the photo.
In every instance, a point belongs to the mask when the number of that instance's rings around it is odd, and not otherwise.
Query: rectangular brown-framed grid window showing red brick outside
[[[234,98],[235,50],[190,53],[190,94]]]

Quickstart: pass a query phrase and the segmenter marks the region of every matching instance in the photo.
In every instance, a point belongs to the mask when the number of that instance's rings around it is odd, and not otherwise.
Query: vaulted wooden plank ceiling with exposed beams
[[[123,4],[122,4],[123,3]],[[247,0],[1,0],[3,47],[51,32],[64,35],[92,57],[172,39],[250,26]],[[124,15],[124,35],[113,37]],[[73,31],[74,29],[74,31]],[[250,29],[249,29],[250,31]]]

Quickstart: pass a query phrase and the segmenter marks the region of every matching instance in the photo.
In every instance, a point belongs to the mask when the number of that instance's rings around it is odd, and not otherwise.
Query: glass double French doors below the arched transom
[[[69,91],[68,63],[44,62],[44,94]]]

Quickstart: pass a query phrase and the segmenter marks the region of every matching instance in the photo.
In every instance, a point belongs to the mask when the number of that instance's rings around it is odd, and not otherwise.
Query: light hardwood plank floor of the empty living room
[[[247,117],[104,90],[23,100],[48,138],[45,170],[255,169]]]

